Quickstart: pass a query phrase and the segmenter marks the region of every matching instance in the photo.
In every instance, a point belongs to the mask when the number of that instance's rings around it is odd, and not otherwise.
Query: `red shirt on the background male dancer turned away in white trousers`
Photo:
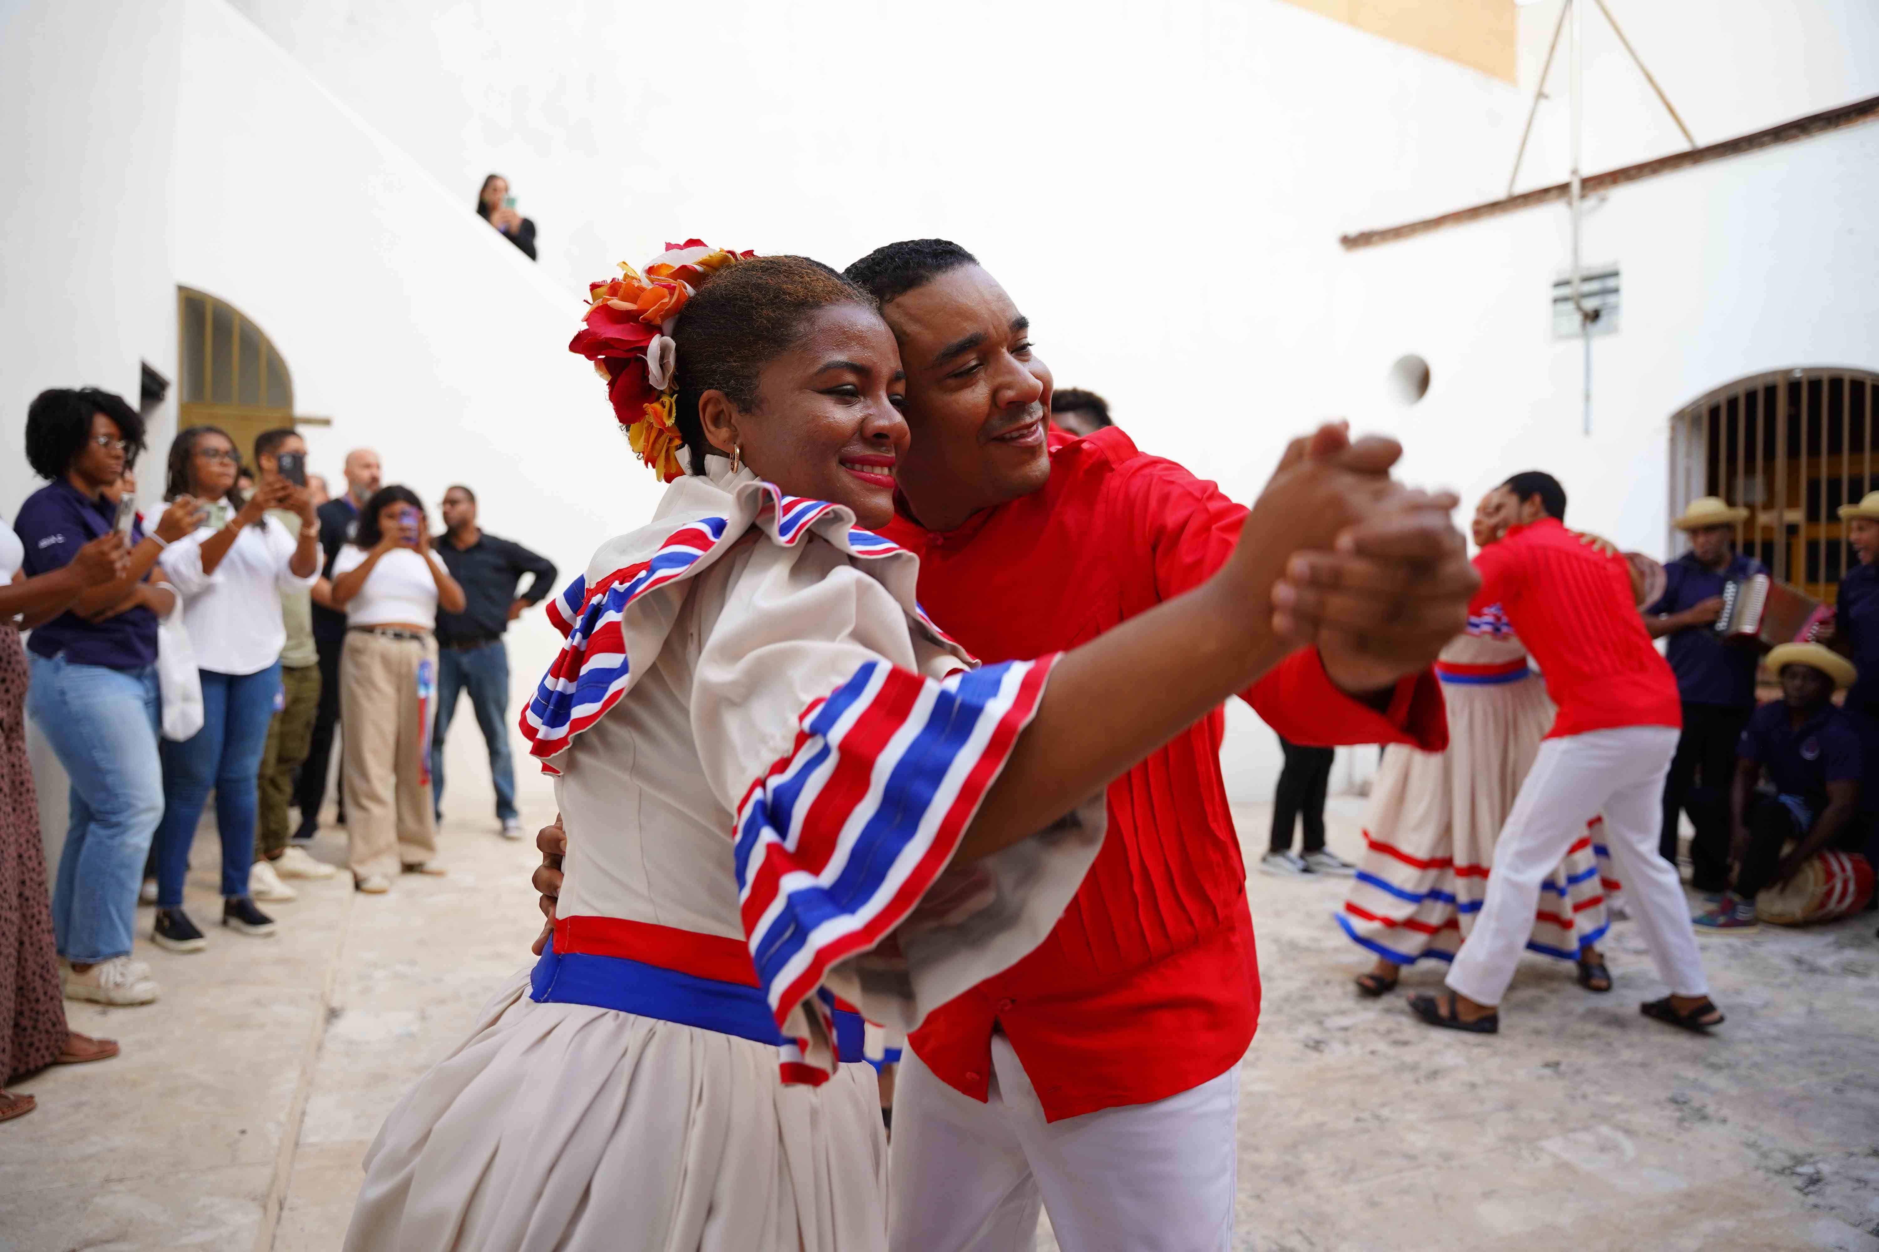
[[[1475,569],[1481,591],[1467,612],[1505,618],[1539,661],[1546,695],[1560,706],[1548,740],[1684,725],[1676,676],[1650,642],[1623,557],[1603,556],[1556,518],[1541,518],[1483,548]]]

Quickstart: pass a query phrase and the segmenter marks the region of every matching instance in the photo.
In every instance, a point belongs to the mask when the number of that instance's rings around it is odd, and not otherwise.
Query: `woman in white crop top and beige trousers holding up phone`
[[[438,685],[438,606],[462,612],[464,589],[430,550],[425,503],[380,488],[359,533],[333,561],[333,606],[346,610],[340,721],[346,726],[346,837],[353,882],[381,895],[393,875],[443,867],[430,803],[430,715]]]

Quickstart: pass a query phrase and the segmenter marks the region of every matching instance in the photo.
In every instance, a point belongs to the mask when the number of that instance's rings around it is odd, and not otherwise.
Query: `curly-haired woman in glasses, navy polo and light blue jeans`
[[[13,522],[28,576],[70,565],[116,526],[107,490],[141,450],[143,419],[120,396],[94,387],[39,392],[26,411],[26,462],[51,482]],[[163,817],[156,618],[173,593],[152,567],[190,533],[195,509],[194,499],[175,501],[150,535],[132,520],[124,573],[81,591],[26,640],[26,713],[71,779],[53,939],[66,995],[77,1000],[148,1004],[158,995],[150,969],[130,955],[143,862]]]

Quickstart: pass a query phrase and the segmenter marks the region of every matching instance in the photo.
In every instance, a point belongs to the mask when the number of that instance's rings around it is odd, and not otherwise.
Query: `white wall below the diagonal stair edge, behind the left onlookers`
[[[385,482],[415,488],[434,524],[443,488],[466,482],[487,529],[564,578],[644,522],[658,482],[592,366],[567,353],[584,300],[235,9],[182,8],[177,282],[248,313],[286,357],[297,409],[333,419],[306,432],[312,467],[340,490],[346,450],[370,445]],[[520,696],[560,636],[532,614],[509,638]],[[474,726],[453,738],[468,743]]]

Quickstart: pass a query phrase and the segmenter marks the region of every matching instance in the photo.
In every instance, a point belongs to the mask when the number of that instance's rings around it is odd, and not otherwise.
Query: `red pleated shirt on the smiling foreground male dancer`
[[[983,661],[1088,642],[1201,584],[1246,509],[1120,430],[1050,435],[1045,490],[928,533],[887,535],[921,557],[926,612]],[[1315,651],[1244,698],[1297,743],[1447,747],[1434,674],[1404,679],[1389,713],[1351,700]],[[1050,1121],[1146,1104],[1225,1074],[1259,1021],[1246,865],[1219,773],[1221,710],[1109,786],[1109,835],[1056,929],[1018,965],[940,1006],[913,1032],[947,1085],[986,1098],[1003,1029]]]

